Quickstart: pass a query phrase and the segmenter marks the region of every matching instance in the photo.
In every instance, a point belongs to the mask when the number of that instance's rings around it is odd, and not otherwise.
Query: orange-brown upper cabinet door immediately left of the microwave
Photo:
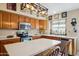
[[[18,15],[11,13],[11,29],[18,29]]]

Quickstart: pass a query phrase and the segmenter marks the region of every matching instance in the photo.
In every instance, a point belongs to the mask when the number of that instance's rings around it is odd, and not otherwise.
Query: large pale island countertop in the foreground
[[[21,42],[4,46],[11,56],[33,56],[60,43],[61,41],[41,38],[39,40],[31,40],[27,43]]]

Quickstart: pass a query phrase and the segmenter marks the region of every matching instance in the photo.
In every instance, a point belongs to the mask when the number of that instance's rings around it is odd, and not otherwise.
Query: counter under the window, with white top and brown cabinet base
[[[71,41],[70,45],[69,45],[69,55],[76,55],[77,54],[77,37],[70,37],[70,36],[62,36],[62,35],[33,35],[33,40],[35,39],[39,39],[39,38],[47,38],[47,39],[51,39],[51,40],[65,40],[65,41]]]

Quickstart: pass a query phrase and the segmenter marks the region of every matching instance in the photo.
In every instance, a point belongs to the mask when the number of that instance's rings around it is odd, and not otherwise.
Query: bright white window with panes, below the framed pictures
[[[66,35],[66,19],[52,21],[52,34]]]

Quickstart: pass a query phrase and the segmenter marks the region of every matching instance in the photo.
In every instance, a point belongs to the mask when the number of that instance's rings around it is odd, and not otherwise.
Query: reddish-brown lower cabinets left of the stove
[[[17,43],[17,42],[20,42],[20,38],[12,38],[12,39],[0,40],[0,56],[8,56],[8,53],[7,53],[4,45]]]

